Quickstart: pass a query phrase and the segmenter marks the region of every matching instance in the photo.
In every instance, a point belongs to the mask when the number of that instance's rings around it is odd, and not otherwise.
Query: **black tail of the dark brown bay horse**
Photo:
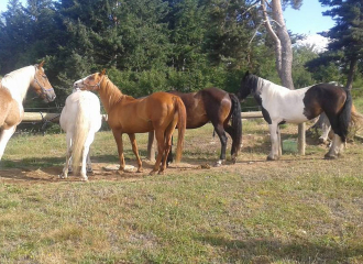
[[[242,116],[241,116],[241,103],[238,97],[234,94],[230,94],[230,98],[232,101],[232,113],[231,121],[233,128],[233,136],[232,136],[232,150],[231,154],[238,155],[241,150],[242,144]]]

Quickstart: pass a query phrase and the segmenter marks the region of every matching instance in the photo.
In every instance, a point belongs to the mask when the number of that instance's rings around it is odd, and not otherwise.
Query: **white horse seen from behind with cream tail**
[[[100,109],[98,97],[90,91],[74,89],[74,92],[67,97],[59,118],[67,141],[66,163],[61,178],[67,178],[69,167],[77,174],[81,162],[81,179],[88,180],[87,173],[92,172],[89,147],[102,124]]]

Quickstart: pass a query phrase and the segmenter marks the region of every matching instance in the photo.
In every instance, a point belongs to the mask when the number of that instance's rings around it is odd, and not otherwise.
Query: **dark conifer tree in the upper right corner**
[[[336,25],[330,29],[327,36],[330,52],[342,51],[343,64],[348,68],[345,87],[352,88],[354,75],[359,63],[363,58],[363,4],[360,0],[319,0],[322,6],[331,9],[323,12],[336,20]]]

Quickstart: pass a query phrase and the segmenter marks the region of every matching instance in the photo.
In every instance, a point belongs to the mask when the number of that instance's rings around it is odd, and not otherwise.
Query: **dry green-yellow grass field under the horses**
[[[296,130],[284,127],[284,139]],[[306,156],[266,162],[266,124],[246,121],[243,135],[235,165],[208,169],[199,165],[220,152],[211,125],[187,131],[183,161],[194,166],[147,176],[147,163],[143,174],[105,172],[117,150],[101,132],[89,183],[57,178],[64,134],[11,139],[0,167],[0,263],[363,263],[362,142],[336,161],[309,140]],[[138,143],[144,157],[146,135]]]

